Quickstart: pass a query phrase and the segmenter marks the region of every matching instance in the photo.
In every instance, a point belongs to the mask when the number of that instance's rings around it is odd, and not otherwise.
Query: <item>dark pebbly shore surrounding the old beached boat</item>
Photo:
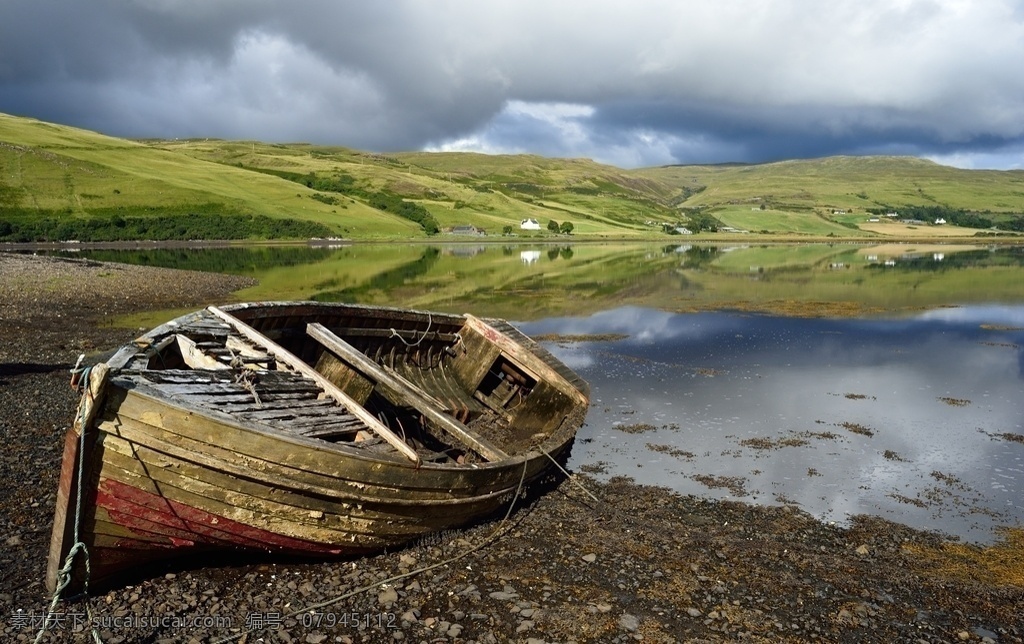
[[[108,315],[221,301],[237,277],[0,253],[0,641],[45,613],[80,352]],[[1024,641],[1024,544],[965,548],[880,519],[714,502],[587,476],[506,519],[343,561],[218,558],[58,607],[45,642]],[[1016,544],[1016,545],[1014,545]]]

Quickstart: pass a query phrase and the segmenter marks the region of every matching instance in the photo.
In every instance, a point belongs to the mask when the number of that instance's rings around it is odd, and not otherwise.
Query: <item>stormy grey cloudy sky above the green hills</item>
[[[1024,168],[1024,0],[0,0],[0,112],[626,168]]]

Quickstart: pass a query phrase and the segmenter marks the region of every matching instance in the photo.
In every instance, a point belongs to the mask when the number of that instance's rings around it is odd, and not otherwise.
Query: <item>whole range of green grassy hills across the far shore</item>
[[[943,238],[1022,230],[1022,171],[904,157],[622,170],[527,155],[132,141],[0,115],[0,242],[409,240],[455,226],[554,239],[551,221],[581,239],[682,227],[712,239]],[[542,230],[521,230],[527,218]]]

